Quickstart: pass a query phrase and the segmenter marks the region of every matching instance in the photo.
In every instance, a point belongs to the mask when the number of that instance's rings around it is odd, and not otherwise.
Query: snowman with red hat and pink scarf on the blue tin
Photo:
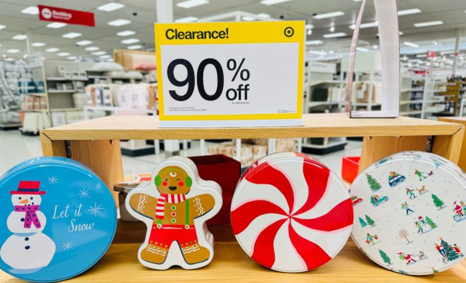
[[[46,218],[40,211],[40,182],[21,181],[18,189],[11,191],[13,212],[7,219],[13,233],[2,245],[0,258],[12,267],[11,273],[34,273],[49,265],[55,254],[55,243],[42,233]]]

